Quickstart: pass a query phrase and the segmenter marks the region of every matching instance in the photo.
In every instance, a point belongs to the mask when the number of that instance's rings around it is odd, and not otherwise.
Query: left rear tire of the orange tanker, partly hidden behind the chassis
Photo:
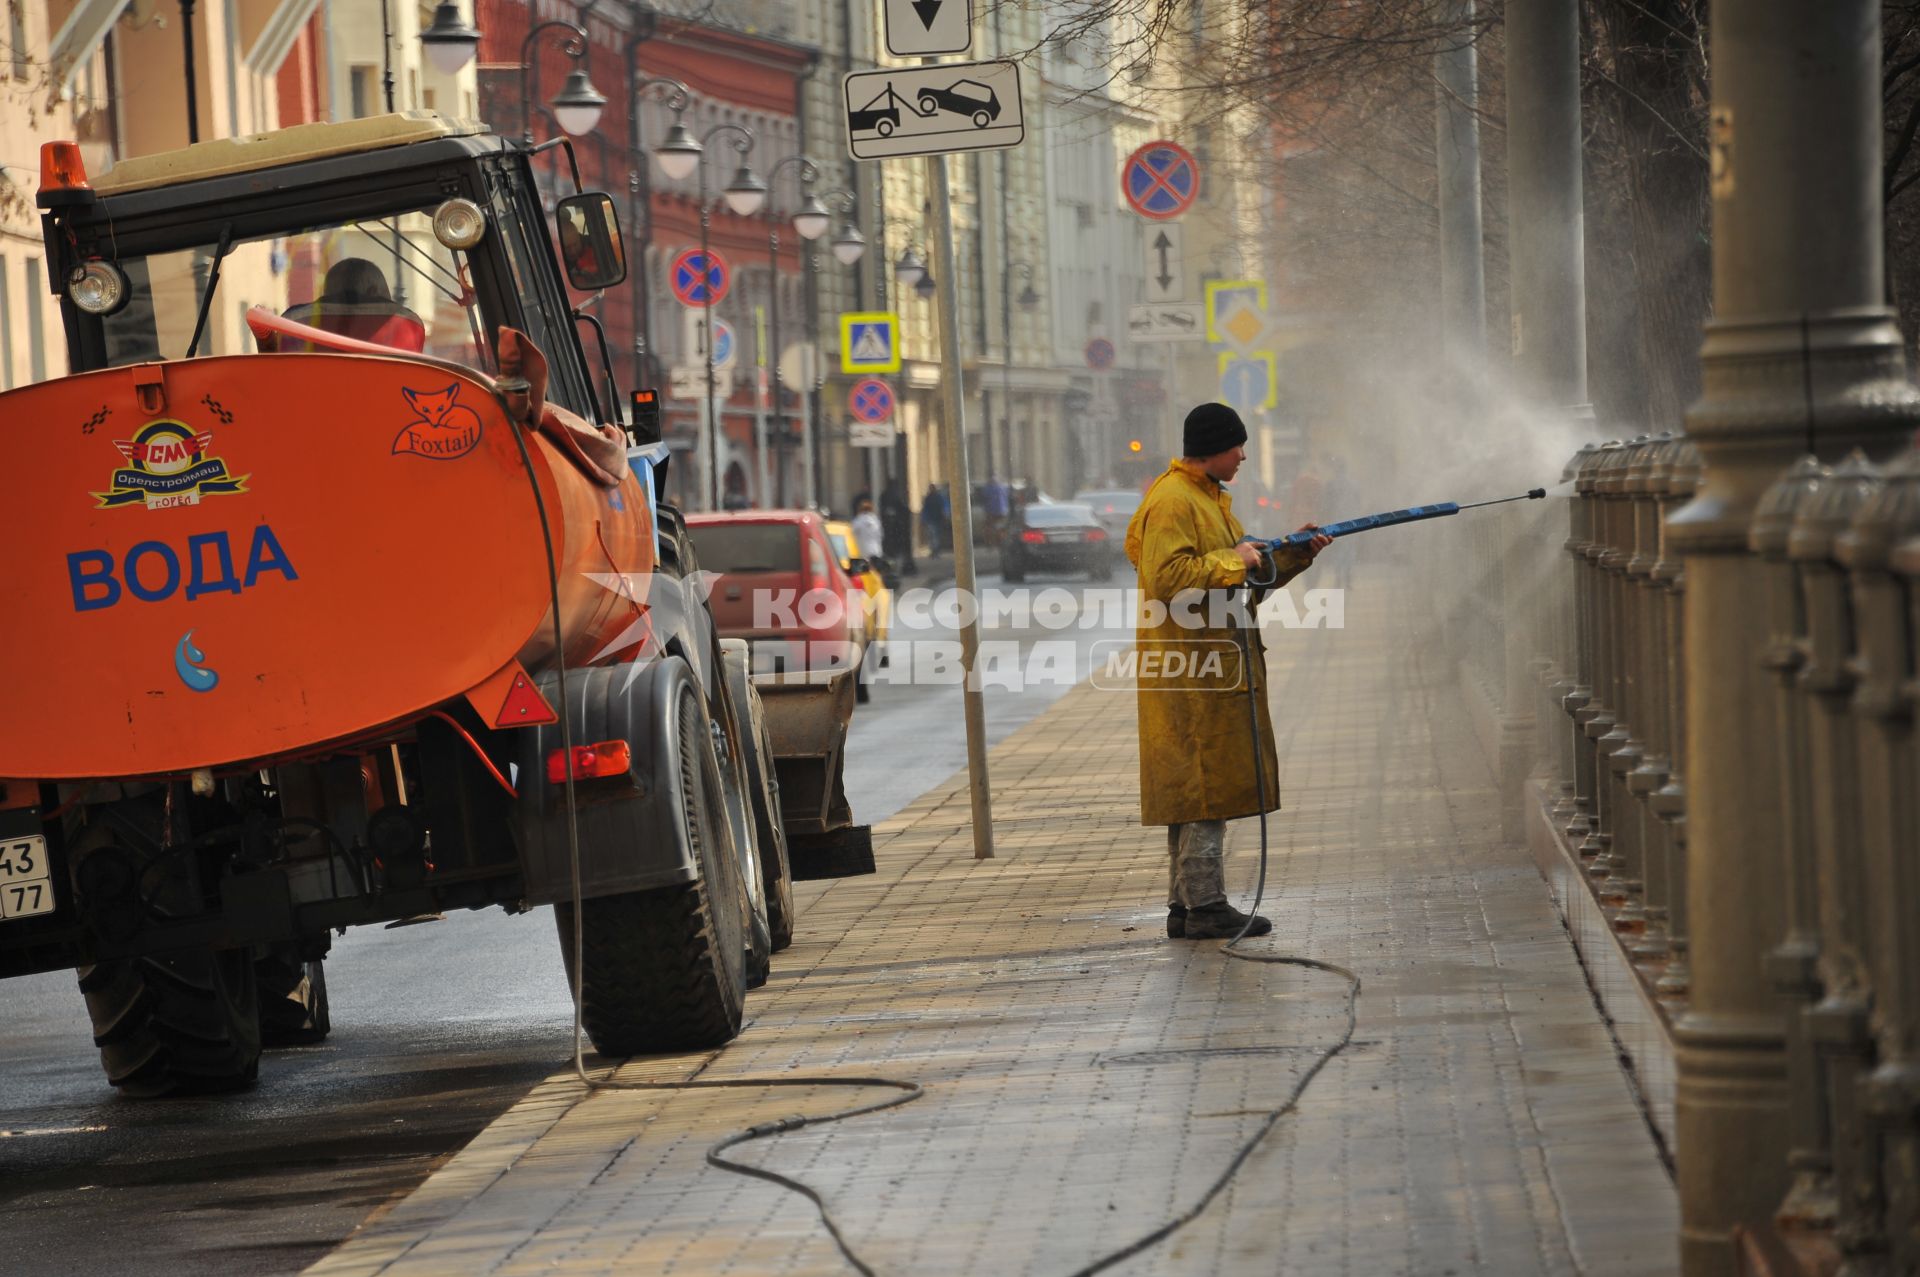
[[[75,878],[86,858],[106,853],[161,864],[159,795],[90,807],[73,843]],[[150,908],[186,908],[186,885],[159,881]],[[259,1075],[259,1004],[253,956],[244,949],[184,949],[148,958],[115,958],[77,972],[94,1045],[108,1081],[127,1095],[209,1095],[244,1091]]]

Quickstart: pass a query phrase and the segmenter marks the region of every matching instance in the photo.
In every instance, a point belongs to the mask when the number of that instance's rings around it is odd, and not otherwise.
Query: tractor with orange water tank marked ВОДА
[[[115,1087],[232,1089],[324,1037],[344,928],[551,904],[601,1052],[737,1033],[793,876],[872,868],[852,682],[714,638],[576,336],[612,200],[555,244],[528,148],[419,111],[56,142],[38,198],[73,373],[0,394],[0,976],[75,968]]]

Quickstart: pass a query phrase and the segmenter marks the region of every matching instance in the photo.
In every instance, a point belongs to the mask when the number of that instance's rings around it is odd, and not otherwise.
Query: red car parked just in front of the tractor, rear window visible
[[[718,572],[707,599],[714,624],[753,645],[756,672],[843,670],[866,655],[866,591],[818,515],[687,515],[687,534],[701,570]]]

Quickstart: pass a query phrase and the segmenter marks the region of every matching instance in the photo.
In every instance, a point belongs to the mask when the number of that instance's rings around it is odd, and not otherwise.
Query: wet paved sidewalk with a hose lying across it
[[[1361,580],[1346,630],[1273,643],[1286,810],[1256,947],[1356,970],[1356,1039],[1194,1223],[1114,1271],[1676,1267],[1672,1183],[1538,872],[1498,841],[1461,697],[1394,601]],[[822,1193],[885,1275],[1071,1273],[1188,1206],[1338,1041],[1346,985],[1164,937],[1133,732],[1131,695],[1069,693],[993,753],[995,860],[972,858],[956,778],[876,830],[879,874],[803,885],[733,1045],[618,1075],[922,1083],[735,1150]],[[1256,841],[1235,826],[1242,903]],[[705,1150],[866,1098],[584,1095],[559,1073],[309,1273],[845,1273],[808,1202]]]

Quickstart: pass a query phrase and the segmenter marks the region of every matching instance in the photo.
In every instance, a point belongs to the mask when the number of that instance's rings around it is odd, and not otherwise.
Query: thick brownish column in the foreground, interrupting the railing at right
[[[1730,1233],[1788,1189],[1786,1050],[1763,954],[1784,935],[1780,822],[1753,778],[1776,760],[1759,495],[1812,446],[1895,449],[1914,394],[1884,296],[1880,6],[1713,8],[1713,290],[1688,415],[1705,484],[1670,518],[1686,559],[1692,1004],[1676,1025],[1688,1277],[1734,1271]]]

